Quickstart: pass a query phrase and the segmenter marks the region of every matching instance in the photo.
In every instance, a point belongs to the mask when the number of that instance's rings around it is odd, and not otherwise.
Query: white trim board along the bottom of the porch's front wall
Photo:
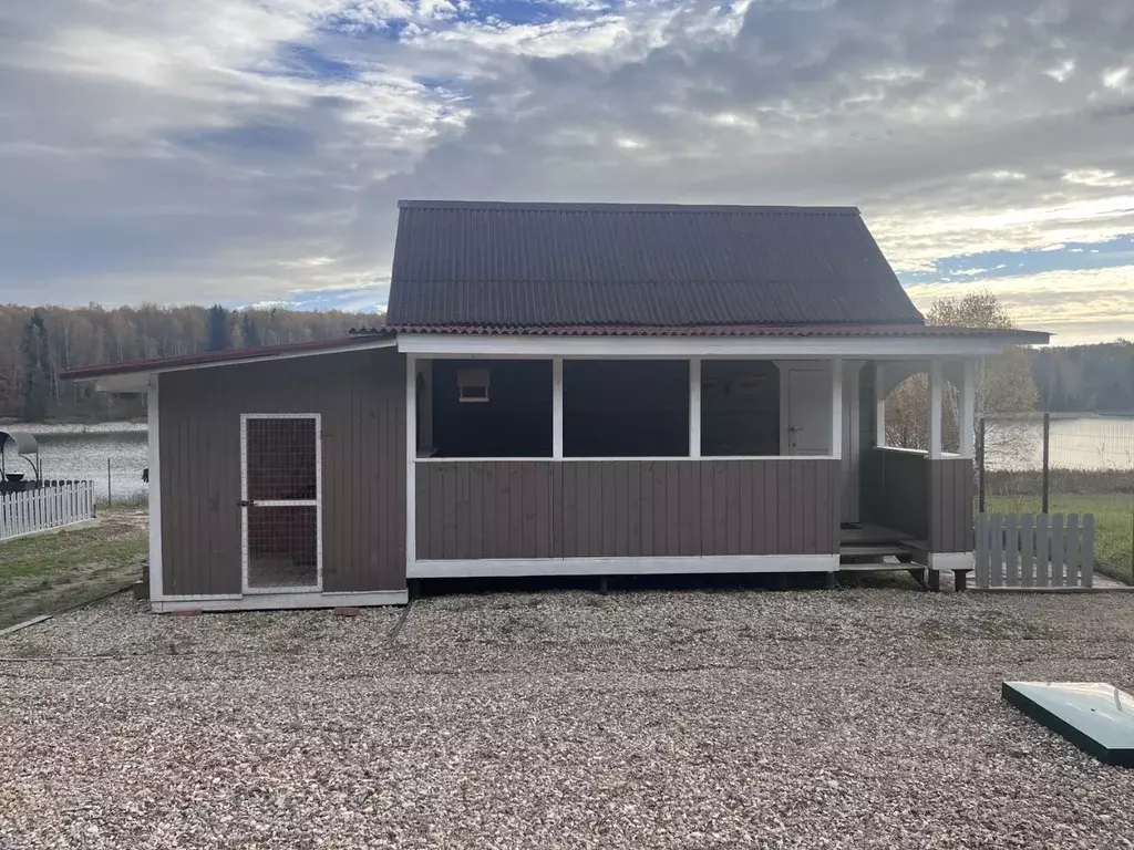
[[[702,572],[835,572],[839,556],[710,555],[704,558],[532,558],[414,561],[407,578],[523,576],[657,576]]]

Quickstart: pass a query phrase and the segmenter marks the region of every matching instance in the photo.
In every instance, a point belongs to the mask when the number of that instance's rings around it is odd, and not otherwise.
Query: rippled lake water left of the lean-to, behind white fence
[[[146,426],[110,422],[99,425],[6,425],[2,430],[31,432],[40,443],[44,478],[93,481],[99,498],[107,498],[107,462],[110,462],[110,490],[115,499],[145,493],[142,470],[149,461]],[[5,468],[9,473],[31,473],[9,441],[5,445]]]

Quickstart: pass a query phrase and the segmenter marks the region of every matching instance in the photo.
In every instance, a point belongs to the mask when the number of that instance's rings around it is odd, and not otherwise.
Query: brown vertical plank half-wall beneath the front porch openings
[[[838,552],[837,460],[437,461],[416,476],[422,560]],[[449,495],[464,476],[497,482],[483,505]]]

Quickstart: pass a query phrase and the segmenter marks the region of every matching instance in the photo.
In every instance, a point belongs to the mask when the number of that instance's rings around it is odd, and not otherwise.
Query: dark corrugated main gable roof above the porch
[[[923,323],[853,207],[398,206],[396,330]]]

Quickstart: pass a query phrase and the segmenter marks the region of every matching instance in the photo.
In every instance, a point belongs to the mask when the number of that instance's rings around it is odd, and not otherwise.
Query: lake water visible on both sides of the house
[[[126,498],[146,492],[142,470],[147,466],[146,426],[112,422],[99,425],[9,425],[31,432],[40,441],[45,478],[93,481],[107,495]],[[997,420],[988,425],[985,443],[990,469],[1039,469],[1043,458],[1043,425],[1039,420]],[[1051,465],[1069,469],[1134,470],[1134,417],[1051,419]],[[9,442],[5,447],[8,471],[28,471]]]

